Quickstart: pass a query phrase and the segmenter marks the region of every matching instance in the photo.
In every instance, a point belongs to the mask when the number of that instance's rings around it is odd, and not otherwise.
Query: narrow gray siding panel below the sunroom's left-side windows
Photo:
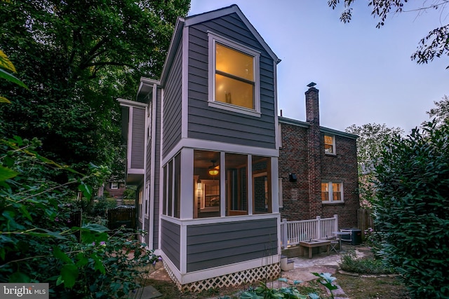
[[[161,229],[161,249],[164,253],[166,253],[177,269],[180,270],[180,225],[162,220]]]

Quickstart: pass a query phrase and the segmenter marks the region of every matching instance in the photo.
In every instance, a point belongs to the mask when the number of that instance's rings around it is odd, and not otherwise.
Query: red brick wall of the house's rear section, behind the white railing
[[[319,132],[316,156],[309,148],[309,138],[314,136],[307,125],[293,125],[283,123],[282,120],[280,123],[282,144],[279,149],[279,177],[282,178],[283,190],[283,207],[279,209],[281,219],[298,221],[316,216],[328,218],[338,214],[340,228],[356,228],[359,207],[356,139],[335,135],[336,155],[326,155],[324,133]],[[315,161],[309,159],[311,151],[312,156],[318,157]],[[319,160],[318,163],[316,159]],[[318,169],[311,171],[311,165]],[[289,181],[290,173],[297,175],[297,181]],[[318,181],[319,186],[311,186],[311,179]],[[342,182],[344,202],[321,203],[321,180]]]

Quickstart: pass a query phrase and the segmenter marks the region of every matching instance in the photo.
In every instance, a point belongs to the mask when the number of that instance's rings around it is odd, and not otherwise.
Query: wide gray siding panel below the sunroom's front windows
[[[277,254],[277,219],[187,227],[187,272]]]

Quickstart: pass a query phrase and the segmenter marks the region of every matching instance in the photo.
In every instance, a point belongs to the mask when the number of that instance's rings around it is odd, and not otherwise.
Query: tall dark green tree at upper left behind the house
[[[119,105],[158,78],[189,0],[0,1],[0,48],[29,90],[0,83],[0,134],[37,137],[43,155],[86,171],[119,153]],[[60,181],[63,181],[62,179]]]

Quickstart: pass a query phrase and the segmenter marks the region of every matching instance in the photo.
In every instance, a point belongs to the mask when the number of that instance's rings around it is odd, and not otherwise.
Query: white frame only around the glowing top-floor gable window
[[[254,74],[254,109],[248,109],[246,107],[237,106],[233,104],[228,104],[220,101],[215,101],[215,45],[216,43],[220,43],[223,46],[227,46],[228,48],[232,48],[232,50],[239,51],[246,55],[250,55],[253,57],[253,74]],[[236,43],[231,41],[223,36],[219,36],[212,32],[208,32],[208,54],[209,54],[209,97],[208,97],[208,106],[214,107],[217,109],[224,109],[227,111],[233,111],[238,113],[247,114],[250,116],[260,117],[260,52],[256,50],[250,49],[246,46],[243,46],[241,43]]]

